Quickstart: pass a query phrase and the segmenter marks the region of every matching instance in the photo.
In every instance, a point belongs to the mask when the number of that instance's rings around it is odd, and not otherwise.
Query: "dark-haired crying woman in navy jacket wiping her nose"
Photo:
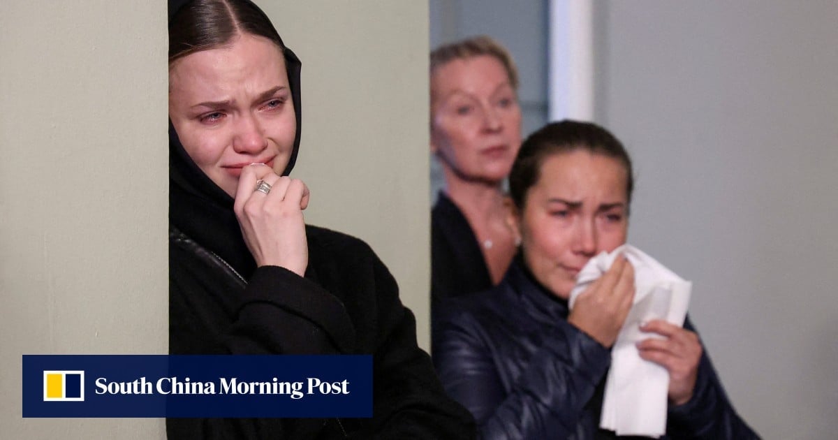
[[[727,400],[688,319],[683,329],[661,319],[639,327],[649,334],[636,344],[639,358],[669,376],[660,396],[668,407],[644,415],[659,419],[660,430],[649,421],[601,421],[612,348],[632,310],[633,264],[617,256],[572,310],[568,299],[588,261],[626,242],[633,186],[623,145],[592,123],[551,123],[522,145],[510,174],[520,252],[499,286],[453,300],[433,341],[443,386],[483,437],[757,437]]]

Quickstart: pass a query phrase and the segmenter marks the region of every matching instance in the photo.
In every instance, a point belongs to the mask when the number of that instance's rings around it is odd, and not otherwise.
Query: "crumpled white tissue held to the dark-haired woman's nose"
[[[577,275],[569,299],[573,309],[579,294],[608,271],[618,255],[634,266],[634,305],[611,351],[611,369],[605,381],[603,413],[599,426],[617,435],[660,437],[666,432],[667,389],[670,376],[654,362],[640,359],[635,343],[656,334],[643,333],[639,325],[665,319],[682,326],[690,303],[692,283],[683,280],[634,246],[623,245],[587,262]]]

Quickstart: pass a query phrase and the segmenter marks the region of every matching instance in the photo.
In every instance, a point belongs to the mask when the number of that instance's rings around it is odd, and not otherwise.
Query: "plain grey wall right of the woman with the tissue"
[[[629,241],[766,438],[835,438],[838,3],[594,3],[597,120],[637,171]]]

